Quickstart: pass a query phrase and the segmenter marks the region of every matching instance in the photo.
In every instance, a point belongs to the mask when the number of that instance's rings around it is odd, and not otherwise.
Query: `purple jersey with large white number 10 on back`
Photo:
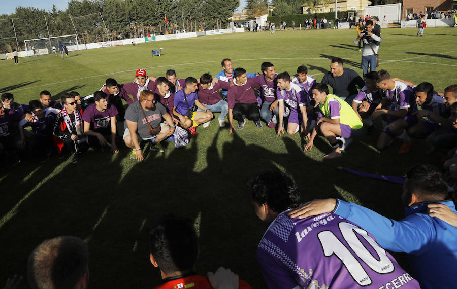
[[[372,235],[332,213],[279,214],[257,259],[269,288],[419,288]]]

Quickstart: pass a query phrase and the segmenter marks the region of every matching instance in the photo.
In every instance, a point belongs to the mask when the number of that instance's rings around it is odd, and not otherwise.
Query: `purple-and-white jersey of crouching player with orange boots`
[[[390,101],[391,110],[399,111],[408,109],[408,114],[411,114],[417,110],[413,97],[411,87],[406,83],[395,81],[394,89],[387,89],[382,98]]]

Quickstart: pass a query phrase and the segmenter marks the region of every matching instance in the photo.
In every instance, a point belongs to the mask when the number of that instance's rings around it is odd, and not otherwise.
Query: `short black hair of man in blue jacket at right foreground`
[[[408,194],[418,195],[420,202],[441,201],[448,195],[443,174],[432,165],[415,165],[406,170]]]

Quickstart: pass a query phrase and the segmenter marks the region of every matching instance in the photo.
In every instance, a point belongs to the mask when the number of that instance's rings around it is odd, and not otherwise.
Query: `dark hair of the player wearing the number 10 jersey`
[[[297,185],[286,173],[268,171],[249,180],[251,199],[258,205],[267,204],[280,213],[300,204]]]

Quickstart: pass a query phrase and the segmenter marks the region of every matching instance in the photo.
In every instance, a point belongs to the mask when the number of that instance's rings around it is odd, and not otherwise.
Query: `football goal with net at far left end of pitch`
[[[55,49],[58,53],[60,43],[62,45],[67,46],[69,51],[78,50],[78,39],[76,37],[76,34],[47,38],[26,39],[24,40],[24,43],[26,50],[32,50],[32,48],[35,46],[35,53],[37,55],[53,53],[53,46],[55,46]]]

